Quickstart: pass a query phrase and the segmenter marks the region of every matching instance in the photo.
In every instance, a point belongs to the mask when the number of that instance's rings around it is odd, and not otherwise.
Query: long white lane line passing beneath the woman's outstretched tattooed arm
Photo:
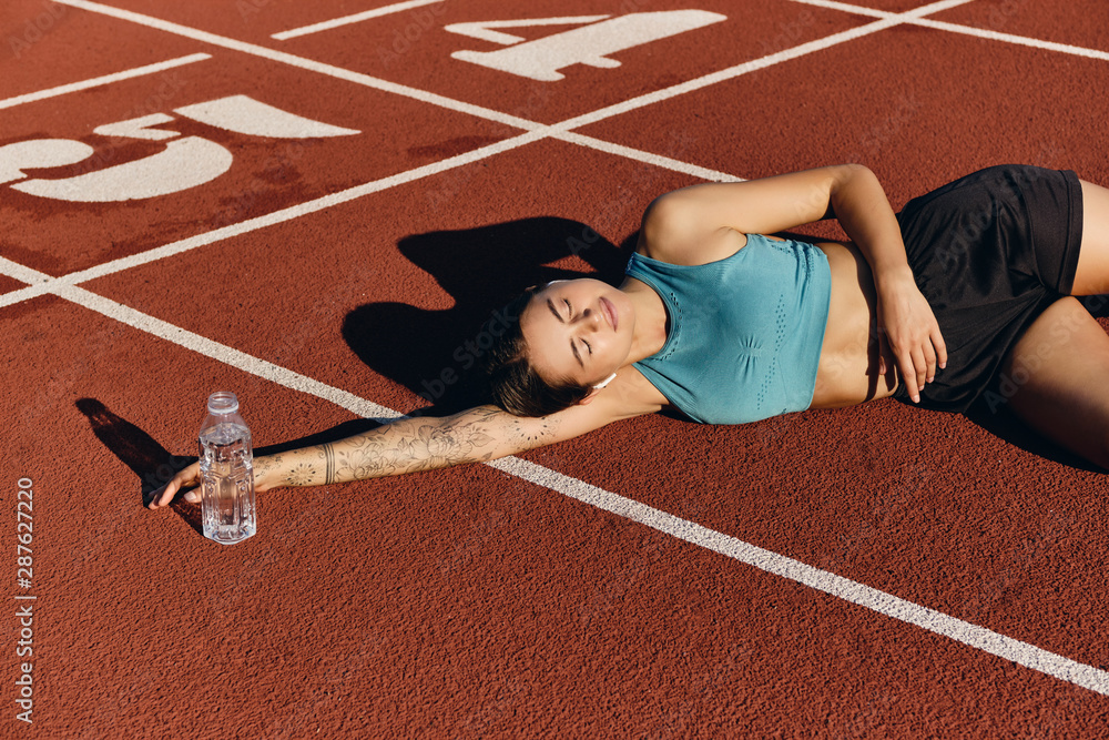
[[[304,393],[345,408],[358,416],[378,422],[400,418],[403,414],[336,388],[301,373],[266,362],[245,352],[220,344],[207,337],[155,318],[149,314],[116,303],[75,285],[59,285],[54,293],[78,305],[153,334],[166,342],[216,359],[245,373]],[[1028,642],[1006,637],[978,625],[956,619],[942,611],[923,607],[913,601],[886,594],[864,584],[837,576],[827,570],[779,555],[741,539],[709,529],[696,523],[681,519],[652,508],[632,498],[592,486],[583,480],[551,470],[518,457],[503,457],[488,463],[490,467],[549,488],[590,506],[624,517],[658,531],[676,537],[691,545],[719,553],[760,570],[787,578],[810,588],[830,594],[886,617],[914,625],[929,632],[947,637],[964,645],[1052,676],[1061,681],[1109,696],[1109,673],[1080,663],[1070,658],[1044,650]]]

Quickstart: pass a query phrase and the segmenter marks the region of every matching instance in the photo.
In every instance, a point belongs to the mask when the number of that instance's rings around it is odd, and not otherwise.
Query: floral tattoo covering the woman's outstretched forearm
[[[255,475],[278,486],[319,486],[480,463],[554,440],[551,417],[520,418],[478,406],[445,418],[403,418],[340,442],[258,458]]]

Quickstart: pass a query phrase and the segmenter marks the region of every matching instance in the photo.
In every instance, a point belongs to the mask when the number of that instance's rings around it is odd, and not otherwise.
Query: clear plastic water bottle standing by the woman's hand
[[[221,545],[241,543],[257,525],[251,430],[238,414],[235,394],[220,391],[208,396],[200,452],[204,536]]]

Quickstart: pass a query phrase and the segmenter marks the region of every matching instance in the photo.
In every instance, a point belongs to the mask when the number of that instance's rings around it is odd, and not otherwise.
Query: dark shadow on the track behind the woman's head
[[[364,363],[423,396],[435,413],[484,403],[480,361],[491,334],[501,333],[489,331],[506,321],[501,308],[552,280],[618,283],[635,236],[617,246],[581,222],[553,216],[408,236],[398,244],[401,254],[433,275],[454,306],[366,304],[347,315],[343,337]],[[563,266],[574,256],[591,270]]]

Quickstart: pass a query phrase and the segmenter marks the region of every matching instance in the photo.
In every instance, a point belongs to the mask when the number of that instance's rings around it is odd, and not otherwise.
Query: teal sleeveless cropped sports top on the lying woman
[[[808,408],[832,297],[812,244],[747,234],[735,254],[672,265],[632,254],[627,274],[662,298],[667,342],[634,363],[694,422],[743,424]]]

